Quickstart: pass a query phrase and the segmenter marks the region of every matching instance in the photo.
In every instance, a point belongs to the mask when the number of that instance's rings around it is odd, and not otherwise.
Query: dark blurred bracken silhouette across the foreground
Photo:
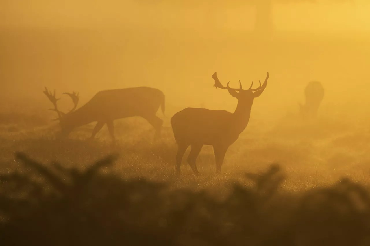
[[[273,164],[246,174],[227,198],[168,189],[109,172],[116,156],[85,171],[26,167],[0,177],[1,245],[369,245],[369,191],[348,179],[301,194],[279,190]],[[35,172],[36,171],[36,172]]]

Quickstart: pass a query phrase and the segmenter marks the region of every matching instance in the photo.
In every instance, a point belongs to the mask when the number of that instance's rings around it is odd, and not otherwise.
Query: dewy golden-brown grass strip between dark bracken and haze
[[[344,125],[335,129],[332,124],[328,119],[318,119],[316,124],[285,120],[280,125],[276,124],[277,127],[266,130],[258,127],[258,122],[252,121],[229,148],[221,177],[215,176],[212,147],[203,146],[197,159],[201,177],[194,177],[185,161],[188,150],[181,166],[180,179],[175,177],[177,146],[172,129],[165,127],[162,139],[152,143],[154,130],[141,119],[126,119],[116,123],[118,143],[115,146],[110,143],[105,128],[95,140],[86,140],[93,125],[81,127],[64,140],[54,139],[57,125],[11,133],[5,131],[0,135],[0,172],[20,168],[19,164],[14,163],[16,151],[28,153],[43,163],[59,161],[81,170],[110,153],[118,153],[119,158],[112,167],[117,174],[126,179],[144,177],[152,181],[170,182],[174,187],[219,189],[233,180],[249,185],[244,173],[263,171],[271,163],[283,165],[288,177],[283,188],[289,191],[330,185],[343,176],[369,185],[370,154],[366,143],[370,134],[361,129],[351,130]]]

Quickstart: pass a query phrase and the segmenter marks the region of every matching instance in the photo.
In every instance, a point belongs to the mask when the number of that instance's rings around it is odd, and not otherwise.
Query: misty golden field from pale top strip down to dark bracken
[[[212,38],[215,34],[217,38]],[[244,172],[265,170],[276,162],[289,177],[284,184],[288,190],[329,185],[343,175],[365,185],[369,182],[366,37],[280,33],[265,39],[251,33],[128,28],[15,29],[2,30],[2,35],[6,38],[1,43],[0,79],[9,83],[1,91],[1,171],[17,165],[14,151],[43,163],[59,161],[81,168],[117,152],[118,174],[175,181],[179,187],[223,187],[230,179],[245,182]],[[256,82],[266,71],[270,79],[263,96],[253,103],[246,130],[229,148],[221,177],[213,177],[212,147],[204,146],[197,160],[201,177],[191,175],[185,154],[183,177],[175,180],[171,116],[189,106],[235,110],[236,100],[214,89],[215,71],[222,83],[230,80],[231,86],[238,79],[249,86],[247,78]],[[296,117],[297,103],[304,101],[303,89],[310,80],[322,81],[325,96],[317,122],[303,123]],[[79,106],[102,89],[161,89],[166,96],[166,116],[159,113],[165,127],[162,140],[151,143],[151,126],[133,118],[115,123],[119,143],[114,147],[105,127],[96,140],[85,141],[93,125],[77,129],[69,140],[56,141],[58,126],[50,121],[52,113],[46,113],[51,104],[42,94],[44,86],[55,88],[58,95],[80,92]],[[62,97],[60,107],[70,109],[70,100]]]

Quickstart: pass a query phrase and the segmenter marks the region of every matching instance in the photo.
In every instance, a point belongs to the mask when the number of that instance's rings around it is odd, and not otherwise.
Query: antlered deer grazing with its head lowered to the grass
[[[156,130],[155,139],[160,136],[163,120],[157,117],[159,106],[162,113],[165,110],[165,96],[161,90],[149,87],[136,87],[126,89],[102,90],[98,92],[90,101],[76,110],[78,105],[78,93],[63,93],[70,96],[74,107],[68,113],[63,113],[57,108],[57,101],[60,98],[45,88],[44,94],[53,103],[54,109],[58,114],[61,133],[67,136],[76,127],[97,122],[92,131],[91,139],[107,124],[108,131],[113,141],[114,127],[113,121],[130,116],[141,116],[146,119]]]

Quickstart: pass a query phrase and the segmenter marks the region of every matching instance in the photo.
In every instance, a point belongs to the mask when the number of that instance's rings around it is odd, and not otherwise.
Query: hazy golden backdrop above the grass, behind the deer
[[[212,87],[213,72],[248,88],[269,71],[252,119],[296,112],[306,84],[319,80],[321,115],[368,123],[370,4],[259,3],[1,0],[1,108],[48,113],[44,86],[77,90],[82,104],[99,90],[144,85],[164,91],[168,126],[186,106],[235,109],[234,98]],[[270,11],[271,33],[255,29],[258,7]],[[68,98],[60,103],[71,108]]]

